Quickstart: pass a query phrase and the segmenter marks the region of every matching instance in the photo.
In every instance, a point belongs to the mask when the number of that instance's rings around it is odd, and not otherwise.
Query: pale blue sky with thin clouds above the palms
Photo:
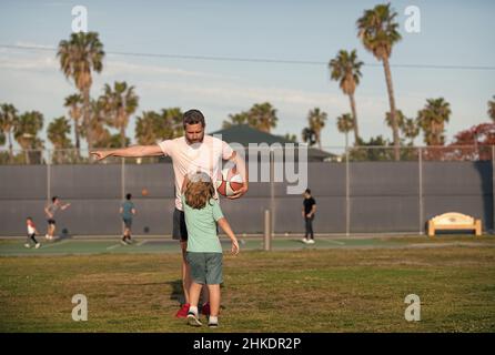
[[[392,140],[384,123],[388,98],[383,67],[356,37],[356,20],[380,1],[183,0],[183,1],[27,1],[0,2],[0,103],[20,112],[38,110],[46,128],[67,115],[64,98],[77,92],[60,71],[55,51],[69,39],[72,9],[88,11],[88,30],[97,31],[107,55],[93,77],[91,95],[105,83],[135,87],[140,105],[128,135],[134,140],[142,111],[180,106],[201,110],[206,131],[221,129],[229,114],[269,101],[277,110],[274,134],[301,140],[307,113],[329,114],[324,146],[343,146],[336,118],[351,111],[348,98],[330,80],[327,62],[339,50],[356,49],[365,65],[355,92],[360,133]],[[420,9],[418,33],[405,30],[410,6]],[[495,95],[495,2],[485,0],[392,1],[402,40],[391,64],[397,109],[415,118],[426,99],[444,98],[452,115],[447,142],[455,133],[488,122],[487,101]],[[20,49],[12,47],[34,47]],[[272,61],[199,60],[115,53],[173,54]],[[286,61],[313,62],[287,63]],[[430,65],[407,68],[403,65]],[[455,69],[437,67],[456,67]],[[434,67],[434,68],[431,68]],[[461,68],[459,68],[461,67]],[[482,67],[482,69],[462,69]],[[483,69],[484,67],[484,69]],[[420,136],[416,144],[423,144]]]

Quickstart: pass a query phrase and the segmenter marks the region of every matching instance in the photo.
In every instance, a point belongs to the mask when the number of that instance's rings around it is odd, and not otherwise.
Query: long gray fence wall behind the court
[[[309,163],[309,186],[317,202],[316,233],[420,232],[444,212],[462,212],[493,230],[492,162],[424,162],[422,187],[417,162],[350,163],[346,196],[345,163]],[[49,183],[50,181],[50,183]],[[124,165],[124,193],[134,196],[135,234],[171,234],[174,207],[171,164]],[[49,190],[50,186],[50,190]],[[263,212],[274,207],[276,233],[301,233],[302,196],[287,195],[286,183],[251,183],[240,200],[221,205],[238,233],[262,233]],[[141,195],[147,189],[149,194]],[[423,191],[421,212],[420,191]],[[49,195],[70,202],[57,216],[59,231],[74,235],[120,233],[122,197],[120,164],[0,166],[0,235],[23,235],[26,217],[46,231],[43,206]],[[346,216],[350,202],[350,214]],[[145,232],[148,231],[148,232]]]

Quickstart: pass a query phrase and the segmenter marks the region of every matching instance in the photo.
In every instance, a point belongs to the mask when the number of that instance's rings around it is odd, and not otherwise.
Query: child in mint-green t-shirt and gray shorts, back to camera
[[[215,189],[205,173],[185,176],[182,185],[182,205],[188,226],[186,261],[191,270],[190,307],[188,324],[202,325],[198,314],[198,302],[202,286],[210,292],[210,317],[208,325],[219,325],[220,284],[223,282],[222,246],[216,234],[216,223],[232,241],[232,253],[239,254],[239,243],[229,222],[223,216],[219,201],[213,196]]]

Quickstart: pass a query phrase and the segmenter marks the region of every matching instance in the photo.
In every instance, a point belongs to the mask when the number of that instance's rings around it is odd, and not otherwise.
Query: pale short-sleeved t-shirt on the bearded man
[[[175,207],[180,211],[183,211],[181,189],[184,176],[202,171],[210,175],[214,184],[222,159],[230,159],[234,152],[226,142],[208,134],[204,134],[201,143],[188,144],[185,136],[180,136],[162,141],[159,146],[163,154],[172,159],[175,175]]]

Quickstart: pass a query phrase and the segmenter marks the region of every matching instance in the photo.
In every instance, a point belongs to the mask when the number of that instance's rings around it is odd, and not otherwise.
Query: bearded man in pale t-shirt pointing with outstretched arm
[[[235,200],[248,192],[248,171],[245,163],[232,148],[224,141],[204,134],[204,116],[199,110],[189,110],[183,115],[184,135],[160,142],[156,145],[134,145],[124,149],[109,151],[93,151],[98,160],[107,156],[156,156],[168,155],[172,159],[173,172],[175,175],[175,210],[173,212],[172,237],[180,240],[182,248],[182,286],[184,290],[185,304],[178,312],[178,317],[185,317],[189,311],[189,286],[191,283],[189,265],[185,260],[185,250],[188,247],[188,230],[185,227],[184,210],[180,197],[184,176],[189,173],[202,171],[208,173],[212,181],[216,180],[218,172],[221,169],[222,160],[235,162],[242,176],[243,186],[229,199]],[[203,313],[208,313],[208,305],[203,307]]]

